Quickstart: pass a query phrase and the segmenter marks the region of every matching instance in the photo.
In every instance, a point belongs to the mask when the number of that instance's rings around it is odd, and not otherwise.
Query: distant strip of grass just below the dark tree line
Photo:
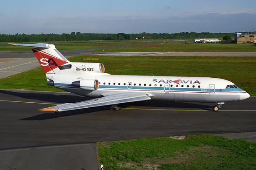
[[[251,44],[221,44],[221,43],[188,43],[192,40],[132,40],[132,41],[78,41],[78,42],[49,42],[58,50],[72,50],[85,48],[104,48],[92,51],[119,52],[256,52],[256,46]],[[24,42],[28,44],[31,42]],[[30,51],[30,47],[0,45],[4,51]]]

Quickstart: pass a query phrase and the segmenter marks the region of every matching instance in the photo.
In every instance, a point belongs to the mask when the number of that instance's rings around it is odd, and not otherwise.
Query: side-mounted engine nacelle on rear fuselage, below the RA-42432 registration
[[[97,90],[99,88],[99,81],[94,79],[82,79],[73,81],[72,85],[84,90]]]

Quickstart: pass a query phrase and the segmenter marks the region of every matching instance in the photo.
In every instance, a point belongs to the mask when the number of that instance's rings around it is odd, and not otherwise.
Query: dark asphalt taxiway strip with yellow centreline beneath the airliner
[[[0,90],[0,149],[256,131],[256,97],[227,102],[218,112],[212,111],[215,103],[171,101],[136,102],[120,111],[39,111],[88,99],[66,92]]]

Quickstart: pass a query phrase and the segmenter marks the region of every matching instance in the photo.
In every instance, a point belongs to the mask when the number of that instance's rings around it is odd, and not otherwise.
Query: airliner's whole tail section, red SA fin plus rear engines
[[[105,69],[102,63],[70,62],[52,44],[10,45],[35,47],[32,50],[46,73],[47,85],[72,93],[76,93],[77,89],[89,92],[97,90],[99,81],[94,78],[95,75],[108,75],[104,73]]]

